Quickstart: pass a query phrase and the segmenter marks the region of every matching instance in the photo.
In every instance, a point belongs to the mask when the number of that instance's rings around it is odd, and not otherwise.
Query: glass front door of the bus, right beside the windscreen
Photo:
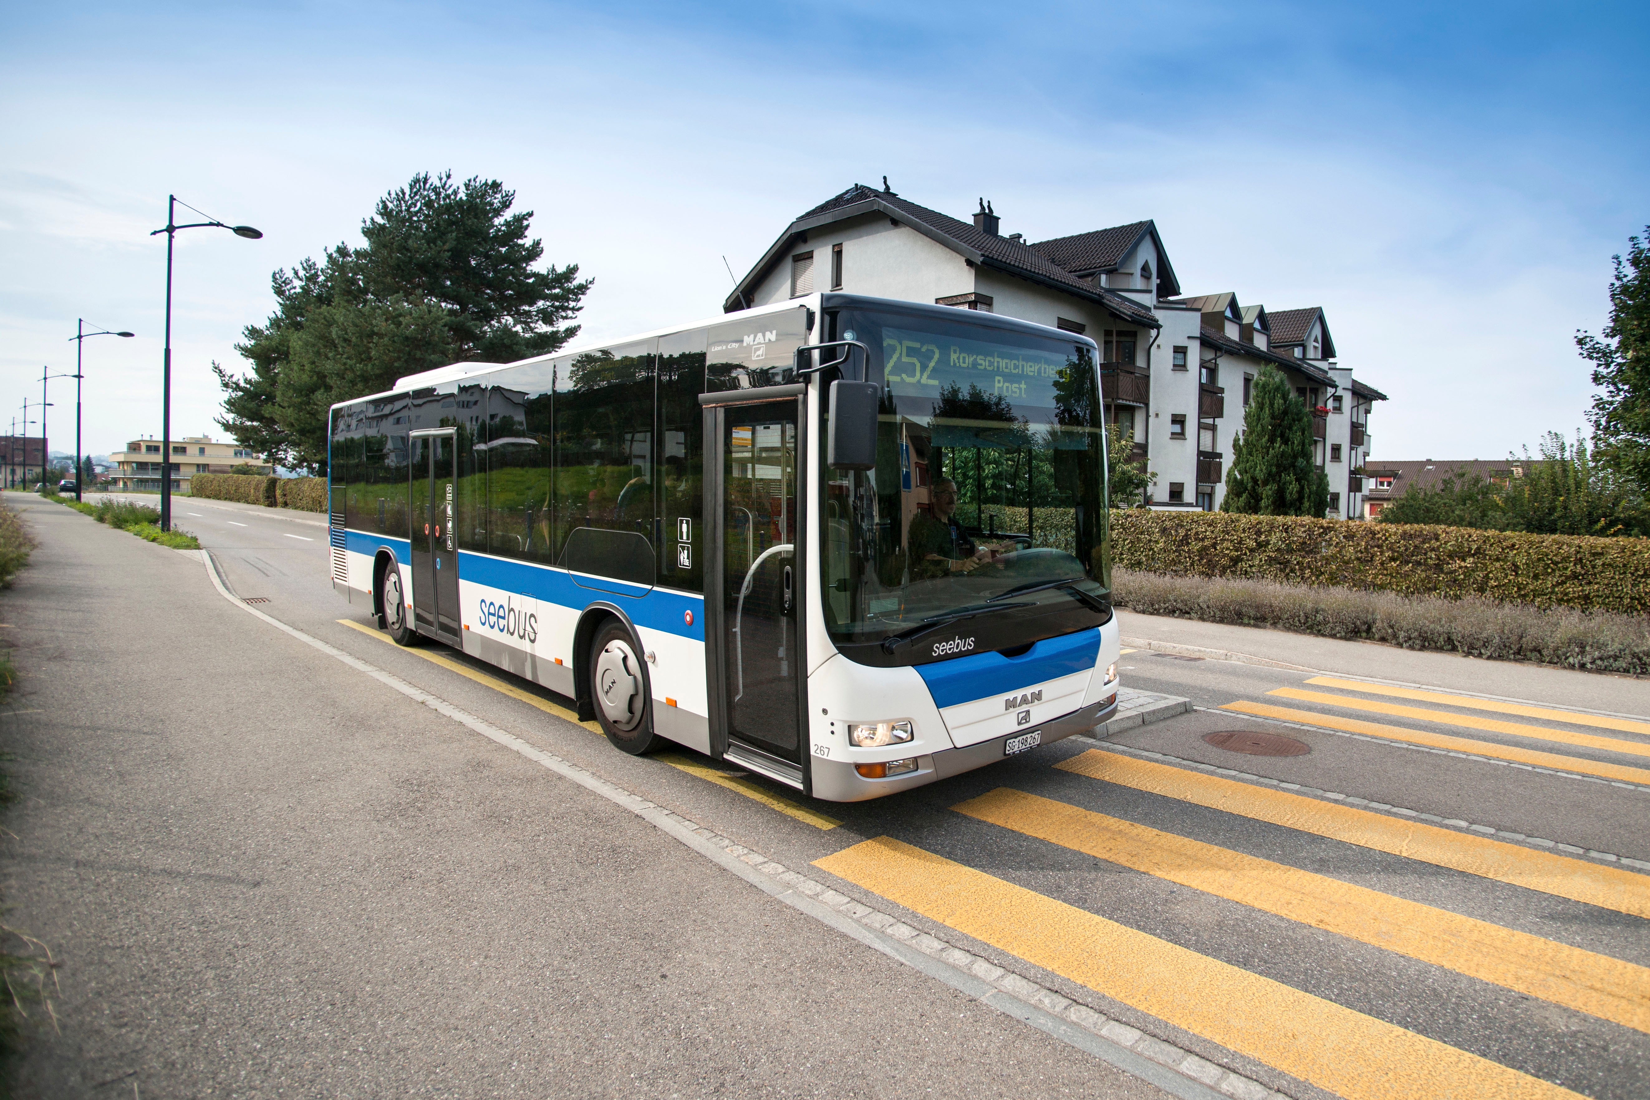
[[[701,397],[711,750],[802,787],[800,401],[738,396]]]

